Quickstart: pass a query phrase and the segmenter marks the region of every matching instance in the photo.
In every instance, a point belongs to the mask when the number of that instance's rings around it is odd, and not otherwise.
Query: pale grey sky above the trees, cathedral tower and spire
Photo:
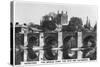
[[[86,23],[87,16],[92,26],[98,19],[97,7],[92,5],[74,5],[74,4],[54,4],[54,3],[38,3],[31,1],[15,2],[15,22],[40,24],[42,16],[54,12],[64,11],[68,13],[68,20],[71,17],[82,18],[83,24]]]

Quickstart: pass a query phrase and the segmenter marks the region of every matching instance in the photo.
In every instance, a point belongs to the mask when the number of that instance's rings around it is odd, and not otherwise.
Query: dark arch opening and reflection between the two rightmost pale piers
[[[77,48],[77,40],[74,36],[67,36],[63,40],[63,59],[76,59],[77,52],[71,51],[71,48]],[[69,56],[72,54],[72,56]]]

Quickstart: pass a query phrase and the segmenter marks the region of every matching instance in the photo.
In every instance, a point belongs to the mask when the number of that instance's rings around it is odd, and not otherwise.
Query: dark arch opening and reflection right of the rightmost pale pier
[[[91,45],[89,45],[89,42],[91,43]],[[96,60],[96,39],[94,36],[89,35],[83,39],[83,48],[83,58]]]

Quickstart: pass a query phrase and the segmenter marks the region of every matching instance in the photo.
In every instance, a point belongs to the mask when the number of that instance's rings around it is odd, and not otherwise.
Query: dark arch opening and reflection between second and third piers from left
[[[44,45],[44,57],[47,60],[56,60],[57,59],[57,52],[54,52],[52,48],[57,47],[57,38],[53,36],[48,36],[45,38],[45,45]]]

